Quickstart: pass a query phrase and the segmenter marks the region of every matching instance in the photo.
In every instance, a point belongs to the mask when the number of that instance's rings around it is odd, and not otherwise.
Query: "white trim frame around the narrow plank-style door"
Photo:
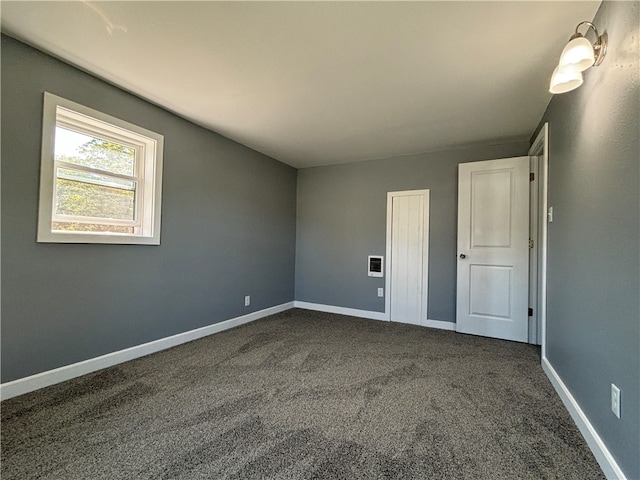
[[[401,192],[387,192],[387,246],[386,246],[386,277],[385,277],[385,298],[384,298],[384,313],[388,321],[391,321],[391,272],[393,265],[391,259],[391,241],[392,241],[392,216],[393,216],[393,198],[409,195],[423,195],[425,197],[424,203],[424,218],[423,218],[423,273],[422,273],[422,312],[420,315],[420,324],[427,325],[427,311],[428,311],[428,299],[429,299],[429,210],[430,210],[430,192],[429,189],[425,190],[405,190]]]

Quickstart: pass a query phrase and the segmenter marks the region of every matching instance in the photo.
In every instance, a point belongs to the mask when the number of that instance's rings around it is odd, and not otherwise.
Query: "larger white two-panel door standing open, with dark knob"
[[[456,331],[526,342],[529,157],[458,166]]]

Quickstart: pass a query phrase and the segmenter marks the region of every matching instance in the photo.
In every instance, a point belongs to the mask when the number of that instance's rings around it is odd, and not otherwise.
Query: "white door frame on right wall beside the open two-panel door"
[[[531,159],[532,166],[535,169],[536,188],[535,196],[537,197],[537,219],[536,238],[534,241],[534,249],[536,250],[537,263],[537,279],[531,281],[529,289],[531,298],[536,299],[536,304],[531,305],[534,309],[534,318],[536,321],[535,339],[529,338],[529,343],[542,345],[542,358],[546,358],[546,332],[547,332],[547,230],[548,230],[548,205],[547,194],[549,190],[549,123],[546,122],[538,136],[534,140],[529,149],[530,157],[538,157]],[[535,160],[535,161],[534,161]],[[533,208],[533,205],[530,206]]]

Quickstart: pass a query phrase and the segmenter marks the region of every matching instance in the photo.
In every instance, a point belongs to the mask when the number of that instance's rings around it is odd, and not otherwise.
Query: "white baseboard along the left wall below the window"
[[[87,373],[96,372],[103,368],[112,367],[113,365],[124,363],[135,358],[144,357],[150,353],[159,352],[160,350],[175,347],[182,343],[244,325],[245,323],[253,322],[268,315],[284,312],[285,310],[293,308],[293,306],[294,302],[283,303],[241,317],[214,323],[206,327],[196,328],[188,332],[178,333],[177,335],[143,343],[135,347],[125,348],[124,350],[118,350],[117,352],[107,353],[106,355],[83,360],[82,362],[65,365],[64,367],[6,382],[0,385],[0,399],[6,400],[40,388],[48,387],[49,385],[86,375]]]

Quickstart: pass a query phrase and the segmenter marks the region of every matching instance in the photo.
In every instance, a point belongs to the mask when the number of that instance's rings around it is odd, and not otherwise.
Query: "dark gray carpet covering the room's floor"
[[[1,473],[604,478],[538,348],[304,310],[3,402]]]

